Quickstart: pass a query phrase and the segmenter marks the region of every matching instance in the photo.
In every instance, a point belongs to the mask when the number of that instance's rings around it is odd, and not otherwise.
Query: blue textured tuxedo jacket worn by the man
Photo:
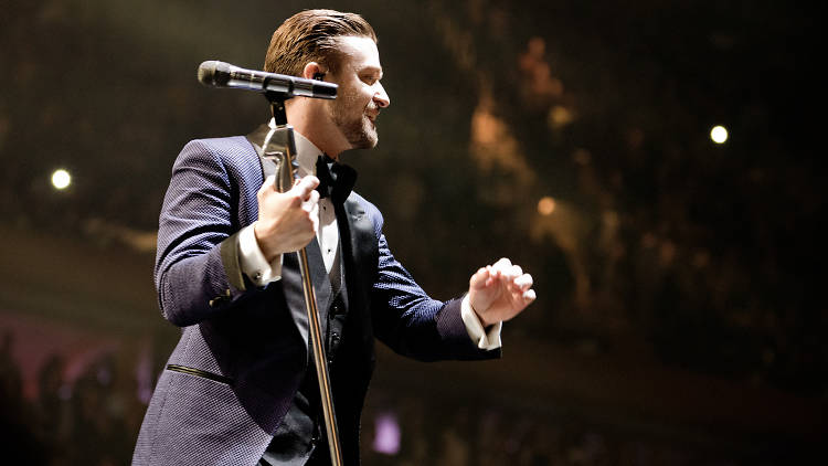
[[[158,381],[135,465],[255,465],[308,370],[295,254],[285,255],[283,279],[266,287],[253,286],[238,264],[237,232],[258,216],[263,180],[262,160],[244,137],[191,141],[176,160],[155,278],[164,318],[182,327],[169,359],[178,370],[164,370]],[[364,380],[355,389],[364,396],[374,336],[420,360],[499,356],[469,339],[459,300],[429,298],[394,258],[373,204],[351,193],[344,211],[340,244],[350,304],[343,332],[357,357],[347,372],[331,374],[333,383]],[[316,240],[308,254],[321,308],[330,282],[318,266]],[[352,407],[357,424],[360,409],[361,399]]]

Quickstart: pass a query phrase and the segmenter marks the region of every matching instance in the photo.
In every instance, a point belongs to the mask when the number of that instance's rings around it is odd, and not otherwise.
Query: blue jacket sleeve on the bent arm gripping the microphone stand
[[[172,169],[158,229],[155,280],[161,311],[198,324],[242,299],[237,187],[213,145],[189,142]],[[251,292],[253,293],[253,292]]]

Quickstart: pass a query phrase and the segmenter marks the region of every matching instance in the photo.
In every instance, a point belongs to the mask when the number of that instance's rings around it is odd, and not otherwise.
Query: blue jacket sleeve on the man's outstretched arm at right
[[[500,357],[500,348],[481,350],[460,316],[461,298],[431,298],[394,257],[382,234],[382,216],[373,208],[379,237],[379,274],[371,295],[374,333],[400,354],[422,361]]]

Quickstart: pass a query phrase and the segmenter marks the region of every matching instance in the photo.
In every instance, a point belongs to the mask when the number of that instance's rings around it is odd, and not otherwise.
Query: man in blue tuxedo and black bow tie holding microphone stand
[[[508,260],[478,269],[461,299],[429,298],[391,254],[380,212],[350,192],[354,176],[339,155],[374,147],[390,105],[368,22],[298,13],[274,33],[265,68],[336,83],[339,94],[288,102],[301,178],[287,192],[274,190],[273,167],[257,152],[262,130],[191,141],[179,155],[156,285],[164,317],[183,330],[147,410],[136,465],[330,464],[293,254],[301,247],[348,465],[359,464],[374,336],[421,360],[495,358],[500,322],[534,299],[531,276]]]

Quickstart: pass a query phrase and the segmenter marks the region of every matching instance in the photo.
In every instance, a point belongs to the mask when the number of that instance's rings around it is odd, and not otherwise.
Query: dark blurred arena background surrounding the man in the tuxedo
[[[0,433],[26,464],[126,464],[178,330],[151,273],[172,161],[246,134],[307,2],[4,2]],[[312,6],[317,7],[317,6]],[[503,359],[378,348],[365,465],[825,460],[825,84],[788,2],[357,0],[392,100],[344,153],[433,296],[509,256],[538,300]],[[723,125],[730,138],[713,144]],[[73,176],[56,191],[57,168]],[[545,210],[544,210],[545,209]],[[551,210],[551,213],[550,213]],[[384,422],[395,454],[376,452]],[[382,431],[382,432],[381,432]],[[392,435],[393,437],[393,435]],[[393,442],[392,442],[393,443]],[[11,456],[13,457],[13,456]]]

